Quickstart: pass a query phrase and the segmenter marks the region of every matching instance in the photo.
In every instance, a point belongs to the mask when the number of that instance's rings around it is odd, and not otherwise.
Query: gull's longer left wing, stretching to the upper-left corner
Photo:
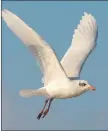
[[[30,48],[39,60],[44,74],[44,84],[56,78],[66,77],[53,49],[19,17],[8,10],[2,11],[7,26]]]

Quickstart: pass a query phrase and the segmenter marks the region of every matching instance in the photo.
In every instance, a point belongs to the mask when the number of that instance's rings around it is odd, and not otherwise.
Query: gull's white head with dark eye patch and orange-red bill
[[[85,92],[85,91],[89,91],[89,90],[93,90],[93,91],[96,90],[95,87],[93,87],[92,85],[88,84],[88,82],[85,81],[85,80],[79,80],[79,81],[78,81],[78,86],[79,86],[79,88],[80,88],[81,90],[83,90],[84,92]]]

